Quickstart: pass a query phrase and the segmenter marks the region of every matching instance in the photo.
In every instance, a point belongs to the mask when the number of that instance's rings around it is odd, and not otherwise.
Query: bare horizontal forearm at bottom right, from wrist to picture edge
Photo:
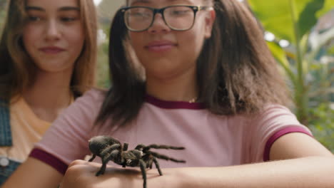
[[[334,157],[307,157],[233,167],[163,170],[173,174],[180,185],[178,187],[334,187]],[[155,187],[153,184],[151,186]]]

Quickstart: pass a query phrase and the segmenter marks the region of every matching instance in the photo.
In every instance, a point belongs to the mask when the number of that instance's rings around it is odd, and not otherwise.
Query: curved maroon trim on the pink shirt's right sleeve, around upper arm
[[[313,137],[313,135],[310,134],[310,132],[306,131],[305,128],[303,127],[286,127],[283,128],[282,130],[279,130],[278,132],[275,132],[265,143],[265,150],[263,152],[263,161],[269,161],[269,154],[270,154],[270,148],[273,145],[273,143],[278,140],[278,138],[282,137],[283,135],[286,135],[288,133],[293,133],[293,132],[300,132],[304,133],[306,135],[310,135]]]

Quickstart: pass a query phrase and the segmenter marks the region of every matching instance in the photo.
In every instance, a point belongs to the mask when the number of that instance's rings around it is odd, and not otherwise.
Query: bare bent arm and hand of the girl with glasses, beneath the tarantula
[[[148,187],[334,187],[333,155],[308,135],[290,133],[271,147],[271,162],[232,167],[193,167],[147,171]],[[95,177],[101,164],[76,161],[61,188],[143,187],[139,170],[108,167]]]

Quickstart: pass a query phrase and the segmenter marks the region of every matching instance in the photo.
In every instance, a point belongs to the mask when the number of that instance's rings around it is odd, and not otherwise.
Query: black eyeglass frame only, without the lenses
[[[164,11],[166,9],[168,9],[170,7],[174,7],[174,6],[188,7],[188,8],[191,8],[193,10],[193,23],[191,24],[191,26],[189,28],[186,28],[186,29],[176,29],[176,28],[172,28],[167,23],[167,21],[165,19]],[[128,24],[126,23],[126,20],[125,20],[125,13],[126,13],[126,11],[128,9],[133,9],[133,8],[146,8],[146,9],[150,9],[151,11],[153,11],[152,21],[151,21],[150,25],[147,28],[142,29],[142,30],[134,30],[134,29],[131,29],[128,26]],[[165,7],[161,8],[161,9],[155,9],[155,8],[152,8],[152,7],[149,7],[149,6],[126,6],[126,7],[123,7],[123,8],[120,9],[120,11],[123,13],[123,20],[124,20],[124,23],[126,25],[126,28],[128,28],[129,31],[133,31],[133,32],[147,31],[149,28],[151,28],[151,26],[154,23],[156,14],[161,14],[161,16],[163,18],[163,22],[166,24],[166,26],[168,26],[168,28],[171,28],[171,30],[173,30],[173,31],[188,31],[191,28],[193,28],[193,25],[195,24],[195,20],[196,20],[196,14],[197,14],[198,11],[211,11],[211,10],[213,10],[212,6],[191,6],[191,5],[171,5],[171,6],[165,6]]]

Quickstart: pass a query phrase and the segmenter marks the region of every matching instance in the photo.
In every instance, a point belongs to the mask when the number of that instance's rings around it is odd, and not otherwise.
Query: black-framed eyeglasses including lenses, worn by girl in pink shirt
[[[211,6],[166,6],[154,9],[148,6],[128,6],[121,9],[126,28],[130,31],[146,31],[153,24],[156,14],[163,16],[163,21],[174,31],[187,31],[195,23],[198,11],[211,11]]]

